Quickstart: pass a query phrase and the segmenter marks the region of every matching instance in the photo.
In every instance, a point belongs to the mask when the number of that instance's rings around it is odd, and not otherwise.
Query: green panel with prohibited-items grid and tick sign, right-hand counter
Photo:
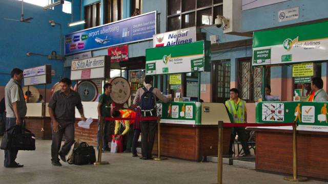
[[[298,130],[328,132],[327,108],[326,102],[259,102],[256,106],[256,123],[296,121]]]

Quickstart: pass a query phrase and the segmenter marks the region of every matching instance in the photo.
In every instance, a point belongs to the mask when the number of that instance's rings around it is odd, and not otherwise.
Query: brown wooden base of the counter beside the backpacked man
[[[223,130],[223,155],[229,153],[230,128]],[[160,151],[163,156],[196,160],[217,155],[217,125],[181,125],[161,123]],[[153,148],[157,155],[157,133]]]

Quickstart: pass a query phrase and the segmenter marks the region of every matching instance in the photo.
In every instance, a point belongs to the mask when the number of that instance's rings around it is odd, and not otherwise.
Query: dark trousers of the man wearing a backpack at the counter
[[[143,112],[141,112],[142,117],[151,117],[144,116]],[[156,117],[156,111],[153,112],[153,117]],[[152,151],[154,146],[155,133],[157,128],[157,121],[140,121],[141,128],[141,155],[142,157],[151,158]]]

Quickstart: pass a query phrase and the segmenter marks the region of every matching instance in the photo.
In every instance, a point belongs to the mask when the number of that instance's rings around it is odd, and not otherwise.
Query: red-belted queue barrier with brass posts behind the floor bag
[[[103,118],[101,117],[101,120]],[[161,157],[160,156],[160,118],[159,117],[135,117],[135,118],[120,118],[120,117],[105,117],[104,120],[106,121],[115,121],[115,120],[120,120],[120,121],[132,121],[132,120],[140,120],[140,121],[151,121],[151,120],[156,120],[157,121],[157,157],[154,157],[154,160],[166,160],[168,158],[166,157]],[[100,127],[102,128],[103,121],[100,121]],[[100,129],[102,130],[102,129]],[[103,137],[103,131],[100,131],[100,137]],[[101,147],[103,146],[101,144],[102,139],[100,139],[99,143],[99,152],[98,152],[98,162],[101,163]],[[100,147],[101,146],[101,147]],[[99,159],[100,158],[100,159]]]

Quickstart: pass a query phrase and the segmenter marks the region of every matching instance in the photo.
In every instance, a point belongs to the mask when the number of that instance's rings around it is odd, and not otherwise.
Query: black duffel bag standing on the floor
[[[79,147],[73,149],[73,164],[85,165],[96,162],[96,153],[92,146],[83,142]]]

